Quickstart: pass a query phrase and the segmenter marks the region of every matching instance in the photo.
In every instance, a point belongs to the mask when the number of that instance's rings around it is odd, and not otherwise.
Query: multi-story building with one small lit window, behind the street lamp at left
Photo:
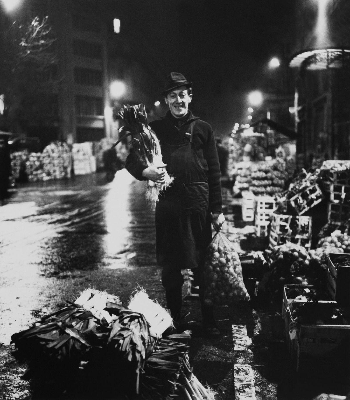
[[[48,16],[55,37],[55,63],[40,112],[27,121],[26,134],[43,145],[118,138],[113,110],[122,104],[146,104],[150,116],[159,97],[158,75],[140,62],[137,46],[123,36],[118,2],[111,0],[24,0],[22,15]],[[119,93],[111,92],[118,82]],[[117,84],[117,85],[118,85]],[[155,89],[156,90],[155,92]],[[152,108],[153,107],[153,108]]]

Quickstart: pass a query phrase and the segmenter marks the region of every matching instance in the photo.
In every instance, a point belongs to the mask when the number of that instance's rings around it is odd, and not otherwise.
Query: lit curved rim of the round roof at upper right
[[[293,56],[289,66],[307,70],[350,67],[350,49],[322,48],[304,50]]]

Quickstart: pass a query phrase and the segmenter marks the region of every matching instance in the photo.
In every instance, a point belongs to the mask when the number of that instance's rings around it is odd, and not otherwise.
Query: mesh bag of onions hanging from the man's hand
[[[216,232],[207,248],[203,283],[204,301],[207,304],[230,305],[250,300],[244,286],[238,253],[221,232]]]

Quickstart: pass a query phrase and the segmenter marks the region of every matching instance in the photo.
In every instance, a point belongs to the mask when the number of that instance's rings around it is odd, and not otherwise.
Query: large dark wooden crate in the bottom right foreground
[[[284,297],[286,342],[294,368],[303,376],[349,380],[350,325],[332,300],[297,301]],[[346,373],[345,373],[346,372]],[[341,376],[341,374],[343,375]]]

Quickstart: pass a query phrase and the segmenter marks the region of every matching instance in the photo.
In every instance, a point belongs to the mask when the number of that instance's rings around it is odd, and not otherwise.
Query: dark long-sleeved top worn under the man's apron
[[[160,145],[163,143],[177,144],[184,141],[186,132],[190,132],[189,125],[194,120],[196,120],[196,124],[194,125],[192,140],[200,163],[208,171],[209,208],[211,212],[220,213],[222,211],[220,164],[211,126],[193,116],[190,111],[183,119],[174,118],[168,111],[160,120],[150,122],[149,125],[156,133]],[[163,162],[167,163],[164,158]],[[129,154],[125,167],[134,178],[146,180],[142,176],[142,171],[147,165],[140,161],[134,152]]]

